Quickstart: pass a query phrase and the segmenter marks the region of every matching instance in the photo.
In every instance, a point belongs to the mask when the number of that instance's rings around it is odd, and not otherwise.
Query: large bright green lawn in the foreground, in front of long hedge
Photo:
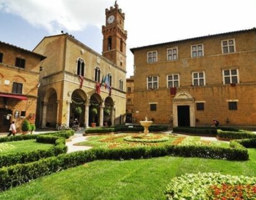
[[[94,161],[1,192],[0,199],[165,199],[170,179],[185,173],[256,176],[256,149],[248,151],[249,161],[170,156]]]

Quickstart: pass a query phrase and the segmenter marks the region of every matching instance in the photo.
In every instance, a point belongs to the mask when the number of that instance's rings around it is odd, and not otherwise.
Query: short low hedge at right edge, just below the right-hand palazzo
[[[238,132],[218,130],[218,136],[220,138],[228,138],[228,139],[256,138],[256,134],[249,131],[243,131],[243,130],[240,130]]]

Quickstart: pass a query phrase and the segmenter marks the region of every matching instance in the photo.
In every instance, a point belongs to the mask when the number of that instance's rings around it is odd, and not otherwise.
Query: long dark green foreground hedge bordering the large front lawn
[[[33,163],[16,164],[0,169],[0,191],[18,186],[63,169],[73,168],[96,159],[140,159],[166,155],[215,158],[228,160],[247,160],[248,151],[240,144],[237,148],[222,148],[217,146],[157,146],[125,149],[90,149],[56,157],[40,159]]]

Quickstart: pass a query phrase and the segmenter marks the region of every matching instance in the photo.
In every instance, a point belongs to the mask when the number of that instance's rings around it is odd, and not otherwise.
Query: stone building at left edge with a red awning
[[[39,69],[46,57],[0,41],[0,133],[15,121],[21,131],[24,119],[34,124]]]

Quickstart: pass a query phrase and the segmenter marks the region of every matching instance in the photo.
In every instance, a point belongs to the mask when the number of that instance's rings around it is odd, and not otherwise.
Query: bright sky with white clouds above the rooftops
[[[256,27],[256,0],[118,0],[125,12],[126,77],[131,47]],[[44,36],[72,34],[101,54],[101,26],[113,0],[0,0],[0,41],[33,50]]]

